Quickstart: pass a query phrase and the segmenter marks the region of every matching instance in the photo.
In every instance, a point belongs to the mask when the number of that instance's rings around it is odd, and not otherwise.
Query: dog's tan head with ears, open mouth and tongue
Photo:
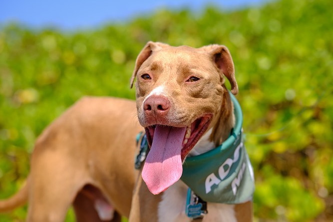
[[[179,180],[182,162],[208,129],[217,143],[221,128],[232,127],[224,76],[237,94],[233,60],[223,45],[148,42],[138,55],[131,87],[136,77],[138,118],[151,148],[142,176],[153,194]]]

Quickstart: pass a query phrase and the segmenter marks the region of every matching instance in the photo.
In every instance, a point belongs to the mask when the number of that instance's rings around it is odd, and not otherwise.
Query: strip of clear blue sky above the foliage
[[[124,21],[158,8],[191,8],[200,11],[208,3],[223,9],[260,5],[267,0],[1,0],[0,24],[16,21],[33,28],[94,28],[106,22]]]

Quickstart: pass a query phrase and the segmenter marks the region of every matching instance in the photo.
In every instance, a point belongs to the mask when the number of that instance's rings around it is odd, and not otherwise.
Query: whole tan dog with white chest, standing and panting
[[[61,222],[72,204],[80,222],[116,222],[120,215],[130,222],[191,221],[182,163],[229,137],[235,117],[224,75],[237,94],[225,46],[148,42],[131,79],[133,85],[137,78],[136,103],[85,97],[74,104],[39,136],[25,186],[1,201],[0,211],[27,201],[29,222]],[[141,170],[146,183],[134,169],[142,127],[151,148]],[[251,201],[207,209],[204,222],[252,221]]]

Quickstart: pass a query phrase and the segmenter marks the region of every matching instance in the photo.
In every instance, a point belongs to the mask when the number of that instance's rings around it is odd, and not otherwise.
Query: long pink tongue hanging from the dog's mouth
[[[183,173],[180,156],[186,127],[157,125],[153,143],[142,170],[142,179],[156,195],[176,183]]]

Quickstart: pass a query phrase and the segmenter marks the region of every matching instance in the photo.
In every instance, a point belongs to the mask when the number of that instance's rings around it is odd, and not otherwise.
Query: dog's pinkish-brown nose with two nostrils
[[[170,101],[165,96],[152,95],[143,103],[146,115],[164,116],[169,111]]]

